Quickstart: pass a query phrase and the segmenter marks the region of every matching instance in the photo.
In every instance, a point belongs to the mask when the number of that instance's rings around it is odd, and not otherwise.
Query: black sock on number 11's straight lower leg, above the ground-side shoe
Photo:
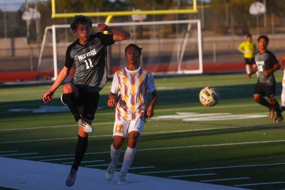
[[[76,171],[78,170],[78,166],[83,159],[83,156],[87,149],[87,145],[88,145],[88,136],[81,137],[78,135],[78,142],[75,149],[74,163],[71,167],[72,169],[75,169]]]

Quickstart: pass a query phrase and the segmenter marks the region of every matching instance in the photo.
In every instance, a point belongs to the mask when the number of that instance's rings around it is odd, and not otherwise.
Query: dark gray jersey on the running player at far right
[[[278,61],[275,55],[269,52],[268,50],[266,50],[266,52],[263,52],[262,54],[257,52],[254,58],[255,58],[255,63],[257,66],[257,72],[259,72],[257,83],[261,85],[266,85],[266,86],[275,85],[276,82],[275,82],[273,72],[268,74],[267,76],[263,74],[263,71],[272,69],[273,65],[278,64]]]

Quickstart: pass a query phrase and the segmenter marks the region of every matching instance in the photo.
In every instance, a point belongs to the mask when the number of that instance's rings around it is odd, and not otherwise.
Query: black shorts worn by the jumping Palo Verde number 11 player
[[[77,106],[83,105],[82,117],[86,120],[93,121],[95,111],[98,107],[99,92],[86,92],[83,88],[76,86],[78,89]],[[61,96],[61,102],[64,103],[63,97]]]

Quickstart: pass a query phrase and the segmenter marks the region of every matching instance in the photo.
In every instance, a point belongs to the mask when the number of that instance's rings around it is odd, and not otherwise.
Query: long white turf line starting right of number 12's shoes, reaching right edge
[[[224,168],[243,168],[243,167],[256,167],[256,166],[275,166],[275,165],[285,165],[284,163],[274,163],[274,164],[255,164],[255,165],[242,165],[242,166],[224,166],[224,167],[213,167],[213,168],[194,168],[185,170],[168,170],[168,171],[156,171],[156,172],[142,172],[145,173],[164,173],[164,172],[178,172],[178,171],[197,171],[197,170],[212,170],[212,169],[224,169]]]

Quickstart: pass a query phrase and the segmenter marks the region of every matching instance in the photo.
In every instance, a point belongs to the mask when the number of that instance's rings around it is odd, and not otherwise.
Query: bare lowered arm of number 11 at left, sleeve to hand
[[[44,101],[44,103],[47,103],[49,101],[51,101],[51,98],[54,96],[54,92],[56,91],[56,89],[60,86],[61,83],[63,83],[63,81],[66,79],[66,77],[68,76],[70,72],[70,68],[67,67],[63,67],[63,69],[60,71],[60,73],[58,74],[56,81],[54,81],[54,84],[51,86],[51,88],[44,94],[44,97],[42,98],[42,100]]]

